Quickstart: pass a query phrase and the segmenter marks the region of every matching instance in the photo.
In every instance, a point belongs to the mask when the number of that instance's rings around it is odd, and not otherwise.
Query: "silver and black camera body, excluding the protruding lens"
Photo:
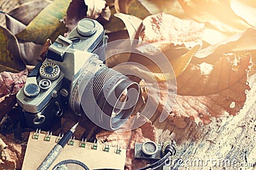
[[[97,55],[94,51],[107,39],[99,22],[85,18],[78,22],[67,38],[59,36],[49,46],[47,59],[36,65],[24,87],[17,93],[20,124],[23,127],[47,131],[56,121],[60,121],[67,106],[81,115],[81,111],[76,109],[81,108],[76,106],[79,100],[77,81],[83,75],[89,77],[88,74],[106,67],[103,64],[104,46],[97,50]],[[89,71],[84,73],[84,69]]]

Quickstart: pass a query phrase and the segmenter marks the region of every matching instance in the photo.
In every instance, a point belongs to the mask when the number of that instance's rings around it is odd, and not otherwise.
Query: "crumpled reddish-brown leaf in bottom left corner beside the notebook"
[[[16,143],[0,134],[0,139],[6,143],[4,153],[0,159],[0,169],[21,169],[24,159],[26,145]]]

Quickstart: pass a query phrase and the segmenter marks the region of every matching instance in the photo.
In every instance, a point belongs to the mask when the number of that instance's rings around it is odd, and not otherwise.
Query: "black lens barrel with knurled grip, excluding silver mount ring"
[[[86,86],[81,97],[81,106],[95,124],[105,129],[116,130],[131,115],[138,96],[138,83],[118,71],[103,66]],[[92,102],[93,99],[96,104]]]

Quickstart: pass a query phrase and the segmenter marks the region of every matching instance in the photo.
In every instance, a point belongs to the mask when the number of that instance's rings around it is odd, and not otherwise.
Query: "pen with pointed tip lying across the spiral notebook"
[[[60,141],[52,148],[51,152],[47,155],[42,164],[38,167],[38,170],[47,170],[54,162],[54,160],[60,155],[64,146],[68,143],[68,140],[72,137],[74,132],[76,131],[78,123],[71,127],[69,131],[60,139]]]

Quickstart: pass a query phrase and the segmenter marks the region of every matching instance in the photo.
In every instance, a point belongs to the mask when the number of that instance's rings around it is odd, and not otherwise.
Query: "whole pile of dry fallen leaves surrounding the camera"
[[[121,67],[140,82],[140,99],[132,117],[149,116],[137,129],[109,132],[99,130],[85,115],[77,118],[67,111],[54,134],[80,120],[77,139],[89,136],[113,146],[122,143],[127,149],[125,169],[144,167],[147,161],[134,159],[134,143],[158,142],[152,115],[182,128],[188,118],[210,124],[214,118],[239,114],[251,86],[248,76],[256,73],[255,14],[255,4],[241,0],[28,1],[0,11],[6,17],[6,25],[0,27],[0,118],[13,108],[28,69],[45,59],[51,42],[59,34],[67,36],[82,18],[95,19],[106,30],[109,43],[129,39],[112,50],[131,47],[136,53],[118,53],[106,64]],[[147,109],[147,104],[154,109]],[[2,156],[0,169],[20,169],[24,146],[2,134],[0,139],[8,143],[12,160]]]

